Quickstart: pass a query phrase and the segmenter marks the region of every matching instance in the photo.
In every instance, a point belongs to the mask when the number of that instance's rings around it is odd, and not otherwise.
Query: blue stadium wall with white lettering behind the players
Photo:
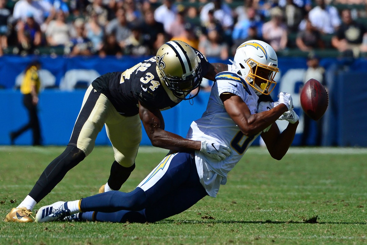
[[[149,57],[145,57],[149,58]],[[33,57],[0,57],[0,145],[10,144],[9,133],[28,120],[26,110],[22,105],[22,95],[19,86],[22,71],[33,60]],[[73,125],[80,110],[84,92],[99,75],[107,72],[124,71],[144,60],[144,58],[123,57],[40,57],[42,64],[41,78],[43,86],[39,102],[39,117],[44,145],[66,145],[69,141]],[[209,59],[210,62],[224,62]],[[320,64],[326,68],[326,84],[330,93],[330,102],[323,117],[322,145],[327,146],[360,146],[366,147],[367,140],[367,60],[338,60],[321,59]],[[280,58],[280,74],[278,84],[272,92],[272,97],[279,91],[292,94],[296,112],[300,116],[300,125],[293,145],[299,145],[303,133],[302,109],[299,104],[299,91],[303,84],[306,71],[305,58]],[[83,87],[83,89],[78,89]],[[176,107],[163,111],[166,130],[183,137],[192,120],[201,116],[206,109],[209,93],[200,92],[194,98],[193,105],[183,101]],[[278,121],[281,129],[286,123]],[[316,138],[316,123],[312,122],[307,144],[314,145]],[[16,140],[17,145],[30,145],[31,132],[28,131]],[[143,130],[142,145],[150,145],[148,136]],[[259,144],[259,140],[255,143]],[[105,129],[99,133],[96,145],[110,145]]]

